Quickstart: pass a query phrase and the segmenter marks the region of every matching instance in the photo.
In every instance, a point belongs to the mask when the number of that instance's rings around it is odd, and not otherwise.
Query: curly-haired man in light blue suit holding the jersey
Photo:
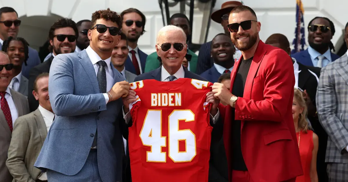
[[[121,25],[109,8],[96,11],[90,46],[52,61],[48,91],[56,116],[34,164],[49,182],[122,181],[122,134],[127,139],[128,128],[121,97],[130,85],[110,61]]]

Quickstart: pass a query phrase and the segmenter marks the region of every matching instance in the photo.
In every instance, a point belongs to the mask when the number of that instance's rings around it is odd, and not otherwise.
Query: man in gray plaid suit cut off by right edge
[[[345,41],[348,47],[348,23]],[[348,51],[322,68],[317,89],[319,121],[326,130],[330,182],[348,181]]]

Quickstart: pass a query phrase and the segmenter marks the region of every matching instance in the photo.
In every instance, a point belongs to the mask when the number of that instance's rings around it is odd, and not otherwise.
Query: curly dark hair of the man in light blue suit
[[[117,23],[120,30],[122,28],[122,17],[115,11],[111,11],[110,8],[97,10],[92,14],[91,29],[94,27],[98,19],[111,20],[112,22]]]

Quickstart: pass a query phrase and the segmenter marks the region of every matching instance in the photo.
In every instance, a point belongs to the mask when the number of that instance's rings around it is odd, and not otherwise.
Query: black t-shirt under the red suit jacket
[[[237,97],[243,97],[245,81],[246,77],[248,76],[252,60],[253,57],[247,60],[244,60],[244,58],[242,57],[242,59],[240,60],[242,62],[240,63],[238,72],[236,74],[236,79],[232,87],[232,94]],[[235,110],[232,109],[232,112],[235,112]],[[240,147],[240,129],[241,121],[234,120],[234,118],[232,118],[232,169],[238,171],[248,171],[243,159],[242,148]]]

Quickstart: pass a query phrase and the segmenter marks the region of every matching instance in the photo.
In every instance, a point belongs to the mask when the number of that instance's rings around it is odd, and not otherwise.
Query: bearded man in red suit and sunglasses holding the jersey
[[[214,83],[207,100],[223,120],[229,181],[294,182],[303,172],[292,118],[291,58],[260,40],[261,23],[250,7],[234,8],[228,28],[242,56],[231,72],[230,90]],[[220,100],[227,106],[217,105]]]

